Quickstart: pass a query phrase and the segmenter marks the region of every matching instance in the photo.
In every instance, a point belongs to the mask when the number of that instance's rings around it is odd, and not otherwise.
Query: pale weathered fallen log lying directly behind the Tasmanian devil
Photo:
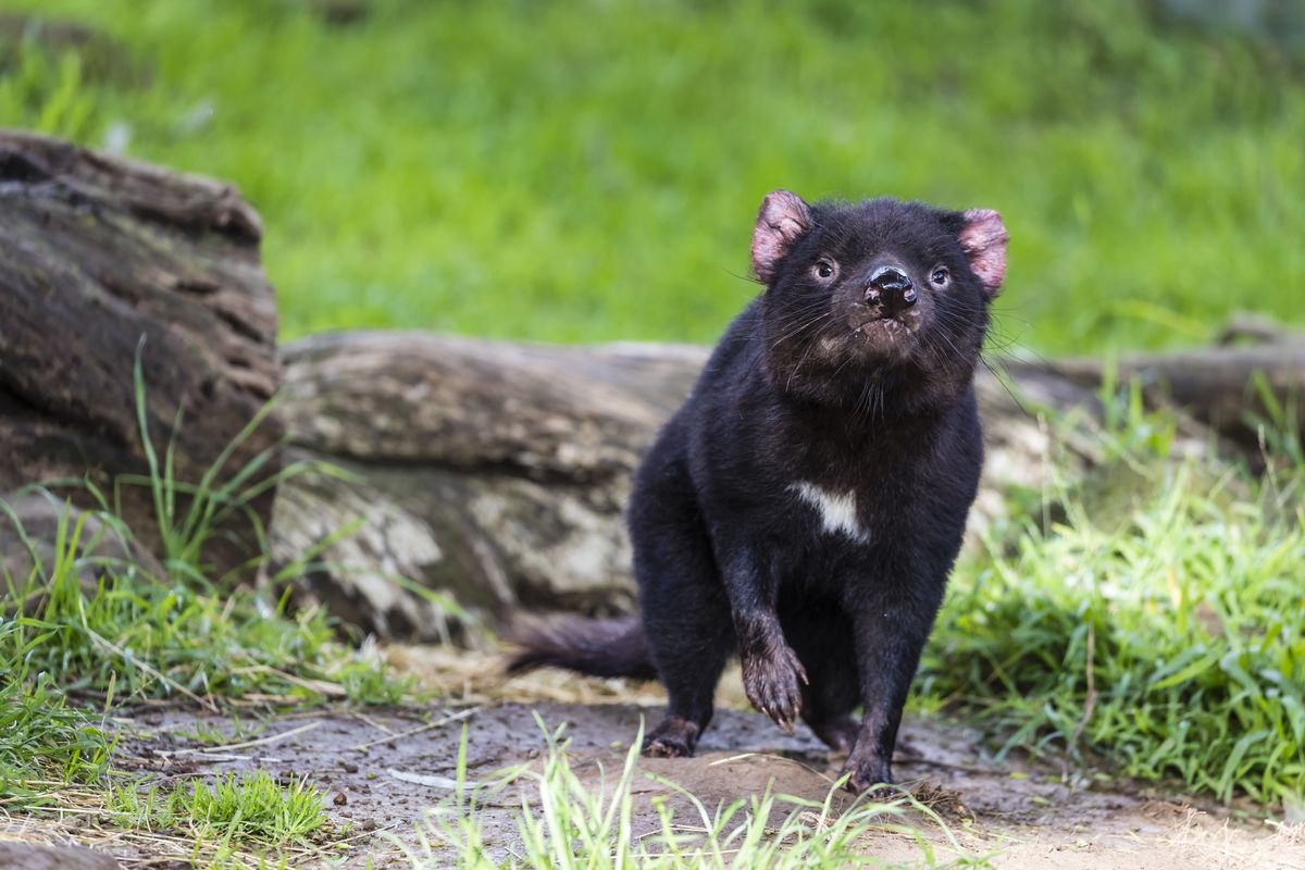
[[[273,565],[291,565],[313,541],[350,528],[312,560],[300,592],[390,639],[455,629],[438,603],[397,578],[491,617],[519,608],[626,610],[630,477],[706,355],[419,333],[296,342],[283,350],[291,457],[347,473],[282,483]],[[988,471],[976,530],[1004,511],[1010,487],[1043,485],[1052,443],[1037,408],[1082,407],[1091,419],[1096,402],[1039,372],[1023,376],[1019,399],[987,370],[977,383]],[[1083,464],[1090,449],[1086,440],[1066,446]]]

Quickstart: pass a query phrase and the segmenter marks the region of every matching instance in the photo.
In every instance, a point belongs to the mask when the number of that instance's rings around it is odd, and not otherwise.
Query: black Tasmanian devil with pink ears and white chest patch
[[[514,670],[655,676],[650,755],[692,755],[737,650],[752,703],[889,783],[920,650],[983,464],[972,376],[1006,270],[988,209],[761,205],[765,291],[636,477],[642,618],[525,631]],[[860,721],[855,708],[863,708]]]

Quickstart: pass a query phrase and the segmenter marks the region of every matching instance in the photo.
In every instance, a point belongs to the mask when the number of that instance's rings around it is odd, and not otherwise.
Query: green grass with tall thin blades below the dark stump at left
[[[142,415],[144,389],[137,364]],[[162,577],[102,547],[117,539],[119,552],[129,552],[133,532],[90,484],[102,507],[74,511],[64,505],[54,539],[43,543],[48,547],[31,540],[21,518],[0,502],[3,520],[31,558],[26,577],[5,574],[0,587],[0,805],[57,805],[60,789],[98,784],[112,749],[100,720],[124,700],[188,699],[218,710],[230,700],[283,706],[405,698],[407,683],[389,677],[375,652],[347,648],[325,612],[291,616],[284,597],[268,601],[247,586],[223,587],[206,575],[204,543],[226,515],[244,510],[269,485],[260,475],[265,455],[224,468],[256,425],[198,484],[185,484],[172,475],[172,446],[161,463],[142,423],[150,466],[144,485],[155,498],[167,556]],[[42,488],[33,490],[55,500]],[[223,788],[210,797],[221,802],[234,787]]]

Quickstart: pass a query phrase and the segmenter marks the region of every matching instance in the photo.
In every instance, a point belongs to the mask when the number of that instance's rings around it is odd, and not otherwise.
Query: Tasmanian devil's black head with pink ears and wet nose
[[[990,209],[808,205],[775,190],[752,265],[766,284],[766,364],[783,389],[837,400],[863,382],[955,387],[979,361],[1006,228]]]

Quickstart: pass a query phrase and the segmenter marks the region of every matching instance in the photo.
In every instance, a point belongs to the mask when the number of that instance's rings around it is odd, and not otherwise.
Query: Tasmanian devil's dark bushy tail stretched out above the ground
[[[518,651],[508,660],[508,673],[535,668],[565,668],[592,677],[656,680],[643,629],[637,617],[586,620],[577,616],[517,623],[508,639]]]

